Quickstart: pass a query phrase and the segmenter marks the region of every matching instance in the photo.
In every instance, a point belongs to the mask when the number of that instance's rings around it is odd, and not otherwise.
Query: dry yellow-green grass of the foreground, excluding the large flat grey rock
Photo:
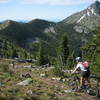
[[[53,69],[49,68],[17,68],[12,74],[9,73],[8,64],[11,61],[0,61],[0,100],[85,100],[86,97],[81,93],[65,93],[64,90],[70,89],[66,82],[52,80],[58,77]],[[6,65],[6,66],[5,66]],[[6,70],[5,68],[6,67]],[[29,73],[33,83],[28,86],[17,86],[16,84],[27,79],[20,77],[21,74]],[[40,76],[45,74],[45,76]],[[92,100],[92,99],[91,99]]]

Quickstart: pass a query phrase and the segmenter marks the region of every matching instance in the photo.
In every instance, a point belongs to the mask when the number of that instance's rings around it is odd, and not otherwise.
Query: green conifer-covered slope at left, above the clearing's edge
[[[7,39],[0,38],[0,57],[1,58],[32,58],[28,51],[19,47],[13,41],[8,41]]]

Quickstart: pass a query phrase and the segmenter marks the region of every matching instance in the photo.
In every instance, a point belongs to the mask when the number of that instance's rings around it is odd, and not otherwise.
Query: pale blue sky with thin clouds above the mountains
[[[0,21],[60,21],[96,0],[0,0]],[[100,0],[98,0],[100,1]]]

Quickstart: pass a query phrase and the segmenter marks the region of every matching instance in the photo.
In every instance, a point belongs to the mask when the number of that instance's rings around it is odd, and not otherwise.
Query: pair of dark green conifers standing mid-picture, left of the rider
[[[39,45],[39,51],[37,53],[37,61],[39,65],[53,64],[60,65],[60,67],[72,67],[74,64],[74,54],[70,53],[67,35],[63,35],[56,47],[56,56],[50,56],[48,47],[45,46],[45,42],[41,41]]]

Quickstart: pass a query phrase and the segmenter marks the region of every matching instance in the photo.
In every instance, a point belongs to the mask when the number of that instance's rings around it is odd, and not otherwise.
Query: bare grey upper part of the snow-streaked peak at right
[[[75,13],[62,21],[67,24],[83,25],[89,29],[100,26],[100,2],[96,1],[85,10]]]

